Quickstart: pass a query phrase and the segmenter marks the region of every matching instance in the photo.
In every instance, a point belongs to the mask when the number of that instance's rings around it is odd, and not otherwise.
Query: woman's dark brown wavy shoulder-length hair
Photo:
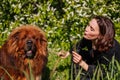
[[[98,23],[100,36],[95,41],[95,47],[99,51],[106,51],[113,46],[115,30],[113,22],[104,16],[93,17]]]

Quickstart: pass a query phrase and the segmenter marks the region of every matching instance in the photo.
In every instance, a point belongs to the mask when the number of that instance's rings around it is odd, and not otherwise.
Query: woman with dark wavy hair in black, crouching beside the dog
[[[120,45],[114,37],[113,22],[107,17],[95,16],[85,28],[83,39],[76,44],[76,51],[66,55],[60,52],[58,55],[66,58],[72,53],[73,62],[86,73],[80,80],[90,80],[99,64],[108,67],[113,56],[120,61]]]

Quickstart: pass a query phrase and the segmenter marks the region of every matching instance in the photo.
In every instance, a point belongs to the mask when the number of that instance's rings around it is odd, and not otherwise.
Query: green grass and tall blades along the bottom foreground
[[[56,55],[56,53],[57,53],[56,51],[49,52],[47,69],[44,72],[43,80],[69,80],[70,77],[72,77],[72,75],[70,75],[71,57],[68,57],[66,59],[61,59]],[[105,65],[102,65],[102,67],[105,70],[106,76],[103,77],[101,67],[98,65],[91,80],[119,80],[120,79],[120,63],[114,60],[114,57],[111,63],[109,64],[108,71],[106,70]],[[7,73],[7,75],[10,77],[11,80],[14,80],[3,67],[0,67],[0,68],[2,68]],[[32,70],[30,65],[29,65],[29,69],[30,69],[30,76],[23,71],[25,76],[27,77],[28,80],[35,80],[32,75]],[[80,74],[82,74],[81,68],[75,80],[80,80]]]

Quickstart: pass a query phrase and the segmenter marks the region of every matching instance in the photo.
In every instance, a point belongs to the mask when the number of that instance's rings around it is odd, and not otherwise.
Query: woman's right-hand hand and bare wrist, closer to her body
[[[76,53],[75,51],[72,51],[72,55],[73,55],[73,62],[79,64],[84,70],[87,71],[88,64],[84,60],[82,60],[82,56]]]

